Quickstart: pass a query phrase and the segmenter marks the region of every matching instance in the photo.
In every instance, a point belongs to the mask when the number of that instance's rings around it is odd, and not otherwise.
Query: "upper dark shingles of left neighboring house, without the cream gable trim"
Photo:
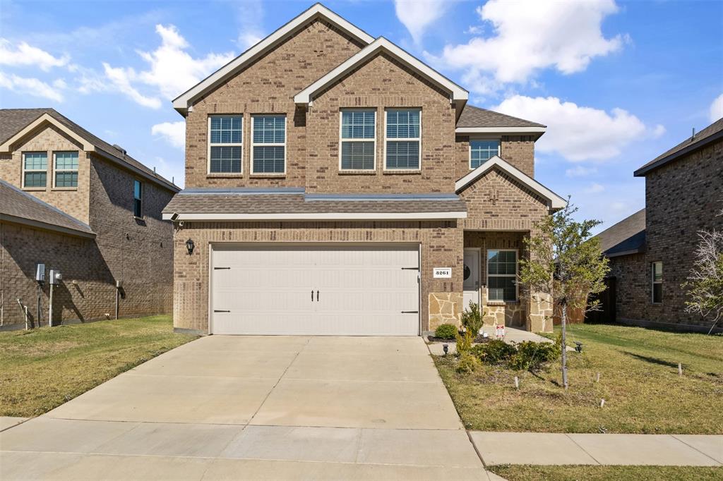
[[[118,157],[127,165],[137,168],[138,170],[141,170],[142,172],[152,176],[161,185],[166,186],[167,188],[171,188],[172,190],[179,190],[178,186],[174,185],[174,183],[171,183],[171,181],[168,181],[168,179],[164,178],[162,175],[158,175],[157,173],[153,172],[153,169],[147,168],[138,160],[135,160],[130,155],[127,155],[127,153],[117,149],[111,144],[108,144],[108,142],[100,139],[100,137],[91,134],[89,131],[83,129],[77,123],[73,122],[66,116],[63,116],[54,108],[0,109],[0,144],[5,142],[10,137],[14,136],[14,134],[17,134],[17,132],[24,129],[28,123],[35,121],[35,119],[42,116],[43,113],[47,113],[48,115],[52,116],[56,119],[56,121],[62,123],[75,134],[78,134],[82,138],[87,139],[88,142],[95,145],[95,147],[97,147],[98,149],[104,150],[105,152],[108,152],[108,154],[111,154],[114,157]]]

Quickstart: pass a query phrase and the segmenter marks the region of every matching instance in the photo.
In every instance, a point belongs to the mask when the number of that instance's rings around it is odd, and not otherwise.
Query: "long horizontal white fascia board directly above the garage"
[[[174,213],[163,213],[163,220],[171,220]],[[278,214],[178,214],[175,220],[448,220],[466,219],[467,212],[320,212]]]

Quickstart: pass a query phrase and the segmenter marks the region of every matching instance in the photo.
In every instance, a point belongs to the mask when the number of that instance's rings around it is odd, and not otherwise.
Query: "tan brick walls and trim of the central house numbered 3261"
[[[317,4],[291,20],[222,71],[212,74],[174,100],[186,118],[186,189],[164,209],[179,222],[174,256],[174,326],[208,333],[209,251],[218,243],[416,243],[421,246],[420,313],[422,332],[438,324],[459,322],[463,293],[463,248],[514,246],[522,256],[524,236],[534,222],[564,202],[534,181],[534,141],[544,126],[501,113],[466,105],[466,92],[395,46],[374,40],[354,25]],[[375,50],[369,50],[374,48]],[[371,51],[364,61],[330,79],[312,94],[309,103],[296,95],[349,58]],[[341,68],[341,67],[339,67]],[[191,87],[191,86],[189,86]],[[309,87],[311,88],[311,87]],[[455,95],[457,97],[455,97]],[[341,109],[376,112],[376,164],[369,170],[340,169]],[[419,170],[385,169],[385,114],[390,108],[421,110]],[[209,173],[209,118],[214,114],[242,116],[242,172]],[[252,116],[286,116],[286,173],[252,173]],[[460,131],[461,127],[474,131]],[[479,178],[458,186],[470,174],[470,139],[497,139],[500,167],[480,171]],[[476,170],[474,170],[476,172]],[[239,222],[233,215],[281,216],[294,212],[273,207],[240,206],[231,199],[265,188],[297,188],[306,196],[385,195],[402,206],[385,204],[385,215],[412,212],[419,205],[410,196],[447,195],[462,199],[463,215],[435,220],[351,221],[343,218],[298,222],[260,219]],[[205,192],[219,191],[217,209],[209,209]],[[407,197],[405,197],[407,196]],[[259,206],[268,204],[261,196]],[[198,199],[197,206],[194,200]],[[269,200],[272,198],[269,197]],[[361,199],[361,198],[360,198]],[[359,199],[356,199],[357,201]],[[317,204],[315,202],[314,204]],[[361,203],[340,204],[348,215],[367,215]],[[400,210],[401,209],[401,210]],[[278,217],[277,217],[278,218]],[[196,248],[185,246],[192,239]],[[484,251],[483,251],[484,252]],[[483,254],[484,256],[484,254]],[[432,276],[433,267],[451,267],[452,277]],[[480,266],[484,269],[484,265]],[[486,277],[481,271],[484,284]],[[482,290],[486,286],[482,286]],[[527,295],[523,287],[521,294]],[[486,294],[482,293],[486,299]],[[544,306],[530,306],[529,298],[495,306],[497,316],[487,321],[549,331],[552,320]]]

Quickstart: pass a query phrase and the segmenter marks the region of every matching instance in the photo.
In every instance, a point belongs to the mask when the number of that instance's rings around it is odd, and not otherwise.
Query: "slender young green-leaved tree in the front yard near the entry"
[[[535,224],[534,235],[525,239],[529,259],[520,261],[519,280],[530,295],[542,293],[560,308],[562,320],[562,385],[568,389],[568,356],[565,350],[568,309],[592,311],[599,300],[589,301],[591,294],[605,290],[604,277],[609,271],[597,238],[591,237],[599,220],[576,222],[577,212],[568,204]]]

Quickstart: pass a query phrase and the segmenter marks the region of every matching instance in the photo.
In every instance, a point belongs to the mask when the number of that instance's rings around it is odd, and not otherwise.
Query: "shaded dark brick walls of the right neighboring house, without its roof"
[[[723,142],[715,142],[646,174],[646,247],[612,257],[617,319],[695,329],[709,321],[685,312],[681,287],[693,267],[699,230],[723,229]],[[663,263],[663,301],[652,303],[651,263]]]

